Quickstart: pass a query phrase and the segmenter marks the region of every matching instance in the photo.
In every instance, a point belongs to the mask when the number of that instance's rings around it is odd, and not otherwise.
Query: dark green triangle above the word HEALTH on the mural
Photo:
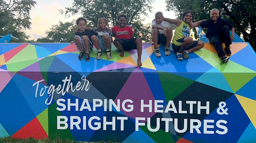
[[[173,100],[194,82],[194,80],[190,80],[171,73],[164,73],[161,71],[158,71],[158,75],[162,84],[166,101]]]

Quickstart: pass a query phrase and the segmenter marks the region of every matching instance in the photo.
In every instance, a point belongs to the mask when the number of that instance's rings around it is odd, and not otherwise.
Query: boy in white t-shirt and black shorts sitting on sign
[[[152,21],[152,41],[154,44],[154,52],[156,57],[160,57],[158,44],[166,44],[164,54],[170,55],[170,43],[172,40],[172,30],[175,30],[176,25],[163,21],[164,16],[162,12],[155,14],[155,20]]]

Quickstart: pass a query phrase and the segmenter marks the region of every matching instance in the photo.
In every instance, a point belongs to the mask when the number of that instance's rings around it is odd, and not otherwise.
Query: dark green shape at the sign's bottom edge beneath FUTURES
[[[165,132],[159,129],[157,132],[151,132],[147,129],[147,124],[145,126],[140,126],[140,128],[155,142],[175,142],[172,138],[172,135],[169,132]],[[151,126],[152,129],[155,127]]]

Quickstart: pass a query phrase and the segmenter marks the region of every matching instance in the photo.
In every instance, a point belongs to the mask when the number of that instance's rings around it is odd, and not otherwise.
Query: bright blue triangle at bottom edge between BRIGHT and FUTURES
[[[139,128],[139,131],[133,132],[128,138],[126,138],[123,142],[154,142],[155,141],[150,138],[143,130]]]

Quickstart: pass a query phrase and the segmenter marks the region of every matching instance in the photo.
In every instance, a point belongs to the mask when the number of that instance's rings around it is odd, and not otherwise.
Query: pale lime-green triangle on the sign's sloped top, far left
[[[37,59],[37,52],[35,50],[35,45],[28,45],[12,57],[6,64],[16,63],[21,61],[30,61],[32,59]]]

